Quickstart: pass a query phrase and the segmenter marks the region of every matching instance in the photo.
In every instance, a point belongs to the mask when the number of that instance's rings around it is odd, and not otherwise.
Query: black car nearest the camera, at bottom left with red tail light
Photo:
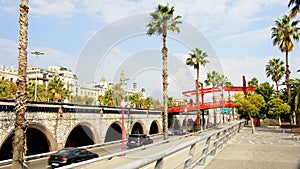
[[[68,147],[50,155],[48,165],[50,168],[56,168],[97,157],[99,157],[98,154],[84,148]]]

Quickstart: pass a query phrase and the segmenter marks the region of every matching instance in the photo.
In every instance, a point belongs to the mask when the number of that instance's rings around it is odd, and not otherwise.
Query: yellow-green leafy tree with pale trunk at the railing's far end
[[[251,120],[252,133],[255,133],[255,127],[253,118],[259,117],[259,112],[262,107],[265,106],[265,100],[263,96],[259,94],[250,94],[247,98],[244,98],[243,94],[235,94],[235,105],[238,113],[242,118]]]

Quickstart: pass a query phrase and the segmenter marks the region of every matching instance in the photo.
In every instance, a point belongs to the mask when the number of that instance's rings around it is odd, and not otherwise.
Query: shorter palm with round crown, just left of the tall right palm
[[[271,76],[271,79],[275,82],[277,96],[279,95],[278,82],[282,79],[285,72],[285,67],[283,66],[284,62],[279,58],[269,60],[266,65],[266,75],[267,77]]]

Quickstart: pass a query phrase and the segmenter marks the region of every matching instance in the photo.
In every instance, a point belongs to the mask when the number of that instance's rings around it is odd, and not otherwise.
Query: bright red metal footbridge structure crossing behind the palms
[[[211,87],[211,88],[203,88],[202,83],[197,83],[196,85],[199,85],[200,88],[198,89],[199,94],[201,96],[201,103],[199,105],[200,110],[206,110],[206,109],[214,109],[214,108],[234,108],[235,104],[232,101],[218,101],[218,102],[206,102],[204,103],[204,95],[207,93],[214,93],[214,92],[243,92],[244,97],[247,96],[247,92],[254,92],[255,87],[254,86],[246,86],[246,80],[245,76],[243,76],[243,86],[224,86],[224,87]],[[198,95],[197,89],[196,90],[189,90],[182,92],[183,95],[189,95],[193,96],[196,95],[196,103],[198,103]],[[178,113],[178,112],[184,112],[185,109],[187,111],[197,111],[197,104],[192,105],[184,105],[184,106],[174,106],[168,108],[168,113]]]

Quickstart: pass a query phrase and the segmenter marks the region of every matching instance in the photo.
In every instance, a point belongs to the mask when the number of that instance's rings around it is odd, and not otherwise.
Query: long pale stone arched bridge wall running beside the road
[[[0,161],[12,158],[14,100],[0,100]],[[162,133],[160,110],[124,108],[124,128],[131,133]],[[193,125],[195,112],[169,115],[169,127]],[[27,153],[122,139],[122,108],[66,103],[27,102]]]

